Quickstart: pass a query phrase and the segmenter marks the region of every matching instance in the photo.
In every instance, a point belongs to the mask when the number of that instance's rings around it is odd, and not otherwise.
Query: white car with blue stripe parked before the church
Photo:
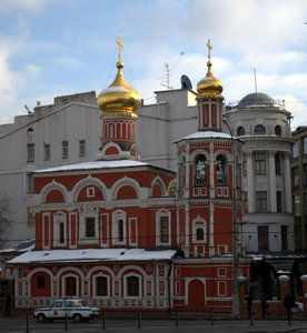
[[[36,309],[33,314],[39,323],[52,322],[56,319],[73,319],[76,323],[88,322],[92,317],[99,316],[98,307],[90,307],[81,300],[57,300],[50,307]]]

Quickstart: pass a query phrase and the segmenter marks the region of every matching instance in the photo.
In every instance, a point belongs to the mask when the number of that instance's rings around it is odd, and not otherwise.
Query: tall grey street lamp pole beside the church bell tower
[[[222,119],[231,135],[232,150],[232,268],[234,268],[234,285],[232,285],[232,306],[231,317],[239,316],[239,297],[238,297],[238,239],[237,239],[237,160],[236,160],[236,141],[232,131],[226,119]]]

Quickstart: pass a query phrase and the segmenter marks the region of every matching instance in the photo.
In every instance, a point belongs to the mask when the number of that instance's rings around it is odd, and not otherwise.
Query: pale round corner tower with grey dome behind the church
[[[244,233],[247,253],[295,250],[290,112],[265,93],[250,93],[225,113],[244,141]]]

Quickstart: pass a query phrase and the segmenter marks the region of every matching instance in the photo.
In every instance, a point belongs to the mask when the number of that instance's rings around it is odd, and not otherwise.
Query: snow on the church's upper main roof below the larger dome
[[[131,168],[146,167],[148,163],[133,160],[112,160],[112,161],[90,161],[85,163],[68,164],[49,169],[37,170],[34,173],[72,171],[72,170],[90,170],[90,169],[112,169],[112,168]]]

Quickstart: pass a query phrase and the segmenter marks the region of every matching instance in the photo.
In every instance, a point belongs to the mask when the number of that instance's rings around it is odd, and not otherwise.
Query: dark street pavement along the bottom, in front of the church
[[[105,325],[105,327],[103,327]],[[177,326],[178,325],[178,326]],[[37,323],[32,317],[10,316],[0,317],[1,333],[249,333],[249,332],[274,332],[274,333],[307,333],[307,319],[294,320],[289,324],[286,320],[255,320],[252,325],[247,320],[139,320],[139,319],[102,319],[92,320],[90,323],[73,323],[57,321],[55,323]]]

